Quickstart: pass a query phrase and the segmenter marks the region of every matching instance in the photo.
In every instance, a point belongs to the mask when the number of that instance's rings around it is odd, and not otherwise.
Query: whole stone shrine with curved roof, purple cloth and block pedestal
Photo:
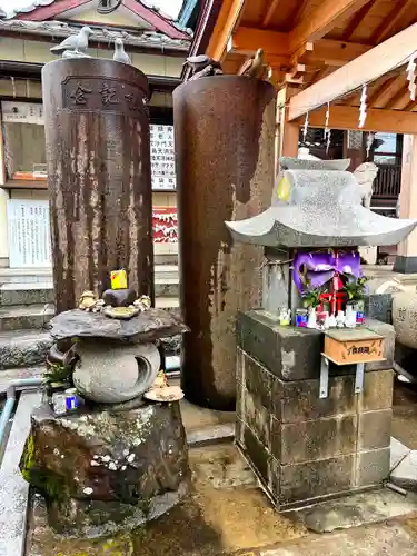
[[[280,510],[376,487],[389,471],[393,326],[366,320],[364,338],[384,338],[384,359],[355,365],[324,354],[325,330],[280,326],[279,311],[294,315],[306,295],[341,276],[347,291],[359,281],[358,246],[396,244],[417,225],[363,207],[355,177],[335,162],[285,159],[274,206],[226,222],[235,240],[265,247],[264,308],[238,319],[236,441]],[[320,254],[331,264],[310,265]]]

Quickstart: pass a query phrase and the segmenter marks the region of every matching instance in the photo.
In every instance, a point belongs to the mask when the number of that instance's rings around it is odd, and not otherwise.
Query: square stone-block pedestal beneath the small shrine
[[[378,486],[389,473],[394,330],[387,363],[367,364],[355,395],[355,366],[330,365],[319,398],[318,330],[279,328],[265,311],[239,318],[236,440],[277,509],[305,506]]]

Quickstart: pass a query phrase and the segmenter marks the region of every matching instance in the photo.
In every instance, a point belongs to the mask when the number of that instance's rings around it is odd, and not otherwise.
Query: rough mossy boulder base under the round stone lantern
[[[59,533],[98,537],[158,517],[188,492],[178,401],[121,413],[32,414],[20,468]]]

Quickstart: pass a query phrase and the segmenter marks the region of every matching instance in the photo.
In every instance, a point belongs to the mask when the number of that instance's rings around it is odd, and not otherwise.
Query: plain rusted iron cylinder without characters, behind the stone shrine
[[[173,92],[186,397],[236,401],[236,316],[261,301],[262,248],[232,244],[225,220],[258,215],[274,186],[275,89],[217,76]]]

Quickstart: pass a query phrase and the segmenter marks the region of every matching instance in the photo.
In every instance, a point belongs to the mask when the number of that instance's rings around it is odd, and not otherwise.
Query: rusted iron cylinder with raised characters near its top
[[[57,311],[109,271],[153,298],[152,197],[146,76],[111,60],[42,70]]]

